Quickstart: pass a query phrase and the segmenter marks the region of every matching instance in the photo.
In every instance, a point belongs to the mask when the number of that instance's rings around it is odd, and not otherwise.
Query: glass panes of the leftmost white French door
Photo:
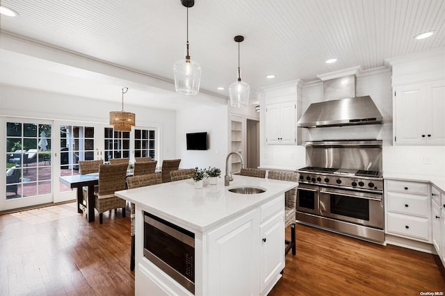
[[[51,193],[51,124],[6,123],[6,199]]]

